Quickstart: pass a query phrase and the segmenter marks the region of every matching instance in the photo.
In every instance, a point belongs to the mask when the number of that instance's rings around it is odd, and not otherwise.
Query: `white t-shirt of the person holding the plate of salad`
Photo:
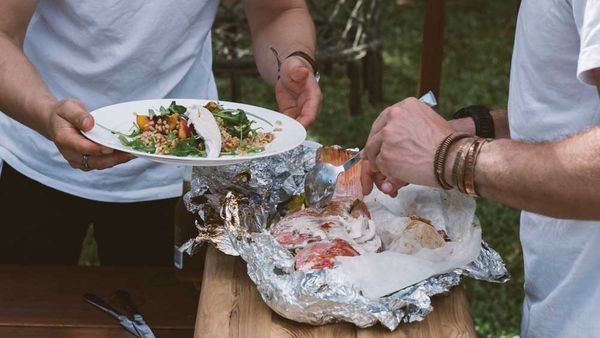
[[[217,0],[40,0],[24,51],[57,98],[77,98],[89,111],[140,99],[216,99],[210,29],[217,7]],[[0,159],[93,200],[163,199],[182,189],[182,168],[142,159],[72,169],[52,142],[2,113]]]

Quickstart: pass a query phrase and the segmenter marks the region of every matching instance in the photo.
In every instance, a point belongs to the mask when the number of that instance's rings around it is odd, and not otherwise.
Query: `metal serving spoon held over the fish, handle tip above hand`
[[[425,93],[419,100],[431,107],[437,105],[435,95],[431,91]],[[304,193],[310,207],[322,210],[331,202],[338,176],[360,161],[360,153],[359,151],[339,166],[325,162],[315,164],[304,180]]]

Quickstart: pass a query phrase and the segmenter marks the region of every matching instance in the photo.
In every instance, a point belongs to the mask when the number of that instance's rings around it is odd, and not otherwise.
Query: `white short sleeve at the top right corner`
[[[595,86],[591,71],[600,68],[600,1],[573,0],[572,5],[580,38],[577,78]]]

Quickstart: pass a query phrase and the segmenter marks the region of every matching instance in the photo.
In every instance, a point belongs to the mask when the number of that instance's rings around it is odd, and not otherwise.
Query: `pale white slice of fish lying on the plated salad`
[[[221,129],[210,110],[202,106],[194,106],[188,110],[189,124],[204,140],[207,158],[217,158],[221,155]]]

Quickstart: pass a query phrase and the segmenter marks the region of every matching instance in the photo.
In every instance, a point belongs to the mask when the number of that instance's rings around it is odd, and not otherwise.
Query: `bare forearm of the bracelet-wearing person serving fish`
[[[486,144],[475,168],[479,193],[511,207],[566,219],[600,219],[600,127],[567,139]]]

